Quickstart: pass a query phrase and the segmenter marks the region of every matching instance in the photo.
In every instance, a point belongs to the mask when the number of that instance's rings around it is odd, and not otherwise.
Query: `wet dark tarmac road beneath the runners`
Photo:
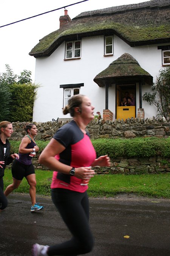
[[[29,195],[11,194],[0,214],[0,256],[31,256],[32,244],[52,245],[70,233],[49,197],[30,212]],[[90,198],[95,246],[87,256],[170,256],[170,200],[133,194]],[[124,238],[124,236],[129,238]]]

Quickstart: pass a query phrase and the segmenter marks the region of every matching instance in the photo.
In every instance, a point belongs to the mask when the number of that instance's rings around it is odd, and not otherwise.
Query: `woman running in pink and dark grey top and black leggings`
[[[89,253],[93,235],[89,226],[88,182],[94,176],[93,166],[110,166],[108,155],[96,159],[96,152],[86,130],[94,118],[90,99],[77,94],[70,98],[63,114],[73,120],[62,126],[46,146],[39,162],[53,170],[51,197],[72,233],[71,240],[56,245],[34,244],[34,256]]]

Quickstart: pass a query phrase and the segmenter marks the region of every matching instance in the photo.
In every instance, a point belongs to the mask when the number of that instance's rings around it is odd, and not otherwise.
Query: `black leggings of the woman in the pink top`
[[[63,188],[53,188],[51,197],[73,237],[69,241],[50,246],[48,255],[76,256],[89,253],[93,248],[94,241],[88,223],[87,192],[79,193]]]

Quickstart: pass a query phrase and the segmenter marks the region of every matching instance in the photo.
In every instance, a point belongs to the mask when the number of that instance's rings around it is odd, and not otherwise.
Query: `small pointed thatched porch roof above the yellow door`
[[[141,68],[138,61],[130,54],[124,53],[117,60],[110,63],[108,68],[100,72],[94,78],[94,82],[100,87],[105,86],[106,81],[122,80],[147,80],[147,83],[153,83],[153,77],[144,69]]]

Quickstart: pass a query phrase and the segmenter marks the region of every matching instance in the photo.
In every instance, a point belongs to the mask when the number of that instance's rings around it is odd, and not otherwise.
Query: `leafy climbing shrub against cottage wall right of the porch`
[[[153,93],[145,93],[143,101],[154,104],[157,107],[157,116],[170,117],[170,67],[161,69],[157,82],[153,83]]]

